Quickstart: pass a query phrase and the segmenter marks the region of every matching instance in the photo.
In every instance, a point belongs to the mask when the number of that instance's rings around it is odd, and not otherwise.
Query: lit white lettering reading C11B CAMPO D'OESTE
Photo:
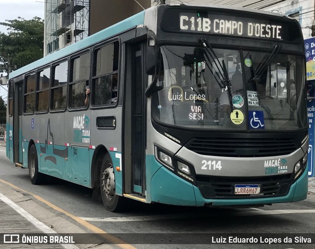
[[[278,40],[282,39],[283,33],[281,25],[266,24],[265,21],[259,22],[258,20],[240,21],[240,18],[213,15],[198,17],[198,15],[191,13],[181,13],[179,19],[180,31],[240,35]]]

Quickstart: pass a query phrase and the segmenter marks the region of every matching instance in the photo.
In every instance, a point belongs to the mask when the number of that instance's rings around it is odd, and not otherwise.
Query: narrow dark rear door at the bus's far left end
[[[23,162],[22,157],[22,108],[23,82],[15,83],[13,108],[13,161]]]

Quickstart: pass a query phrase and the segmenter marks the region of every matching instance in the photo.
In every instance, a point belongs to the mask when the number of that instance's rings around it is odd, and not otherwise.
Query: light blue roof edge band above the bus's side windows
[[[74,53],[76,51],[82,50],[84,48],[87,48],[99,41],[102,41],[108,37],[114,36],[117,33],[126,31],[132,27],[141,25],[144,23],[144,14],[145,11],[142,11],[134,16],[131,16],[117,24],[114,24],[113,26],[110,26],[102,31],[99,31],[79,42],[76,42],[74,44],[71,44],[68,47],[65,47],[57,52],[54,52],[36,62],[32,62],[31,64],[28,64],[24,67],[21,67],[18,70],[13,71],[9,75],[9,79],[15,78],[19,75],[22,75],[24,73],[27,73],[29,71],[32,71],[33,69],[37,67],[41,67],[43,65],[49,64],[51,62],[54,62],[56,60],[59,60],[67,55],[70,55],[71,53]]]

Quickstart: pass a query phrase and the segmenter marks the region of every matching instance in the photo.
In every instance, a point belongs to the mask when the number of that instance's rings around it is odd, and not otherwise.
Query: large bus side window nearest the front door
[[[92,105],[115,105],[118,98],[119,42],[94,52]]]

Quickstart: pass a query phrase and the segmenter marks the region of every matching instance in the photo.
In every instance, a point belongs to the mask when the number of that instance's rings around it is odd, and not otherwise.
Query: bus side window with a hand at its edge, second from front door
[[[85,90],[89,86],[91,53],[71,60],[69,108],[84,107]]]

